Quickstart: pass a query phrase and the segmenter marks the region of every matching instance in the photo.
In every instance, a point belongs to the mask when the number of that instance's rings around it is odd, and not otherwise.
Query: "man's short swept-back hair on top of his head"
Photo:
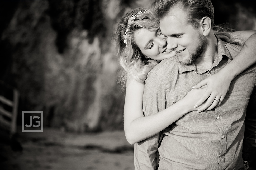
[[[156,18],[162,19],[173,7],[179,7],[187,12],[188,23],[194,29],[198,29],[203,17],[209,17],[213,27],[214,9],[210,0],[156,0],[151,5],[150,11]]]

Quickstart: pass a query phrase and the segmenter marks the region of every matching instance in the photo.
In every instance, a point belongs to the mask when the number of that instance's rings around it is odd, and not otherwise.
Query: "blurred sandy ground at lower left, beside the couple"
[[[1,169],[134,169],[123,131],[94,134],[23,132],[21,148],[1,142]],[[16,151],[13,151],[16,150]]]

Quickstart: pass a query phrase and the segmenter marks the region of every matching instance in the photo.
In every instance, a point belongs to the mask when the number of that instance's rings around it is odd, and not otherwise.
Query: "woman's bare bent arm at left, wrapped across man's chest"
[[[206,90],[206,88],[193,89],[167,109],[144,117],[142,110],[144,86],[134,79],[129,80],[126,85],[124,130],[130,144],[159,133],[187,112],[197,110],[194,108],[195,101],[199,100]]]

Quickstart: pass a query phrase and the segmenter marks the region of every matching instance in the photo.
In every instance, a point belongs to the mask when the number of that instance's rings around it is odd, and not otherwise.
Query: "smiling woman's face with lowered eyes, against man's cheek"
[[[162,61],[176,55],[175,51],[167,50],[165,36],[160,31],[141,28],[134,33],[134,39],[141,52],[153,60]]]

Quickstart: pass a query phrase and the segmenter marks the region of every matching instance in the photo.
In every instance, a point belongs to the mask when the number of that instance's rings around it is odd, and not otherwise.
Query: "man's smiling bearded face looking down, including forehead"
[[[187,22],[187,12],[171,8],[171,12],[160,19],[160,28],[167,38],[167,49],[177,53],[178,60],[183,65],[190,65],[204,51],[207,45],[206,38]]]

